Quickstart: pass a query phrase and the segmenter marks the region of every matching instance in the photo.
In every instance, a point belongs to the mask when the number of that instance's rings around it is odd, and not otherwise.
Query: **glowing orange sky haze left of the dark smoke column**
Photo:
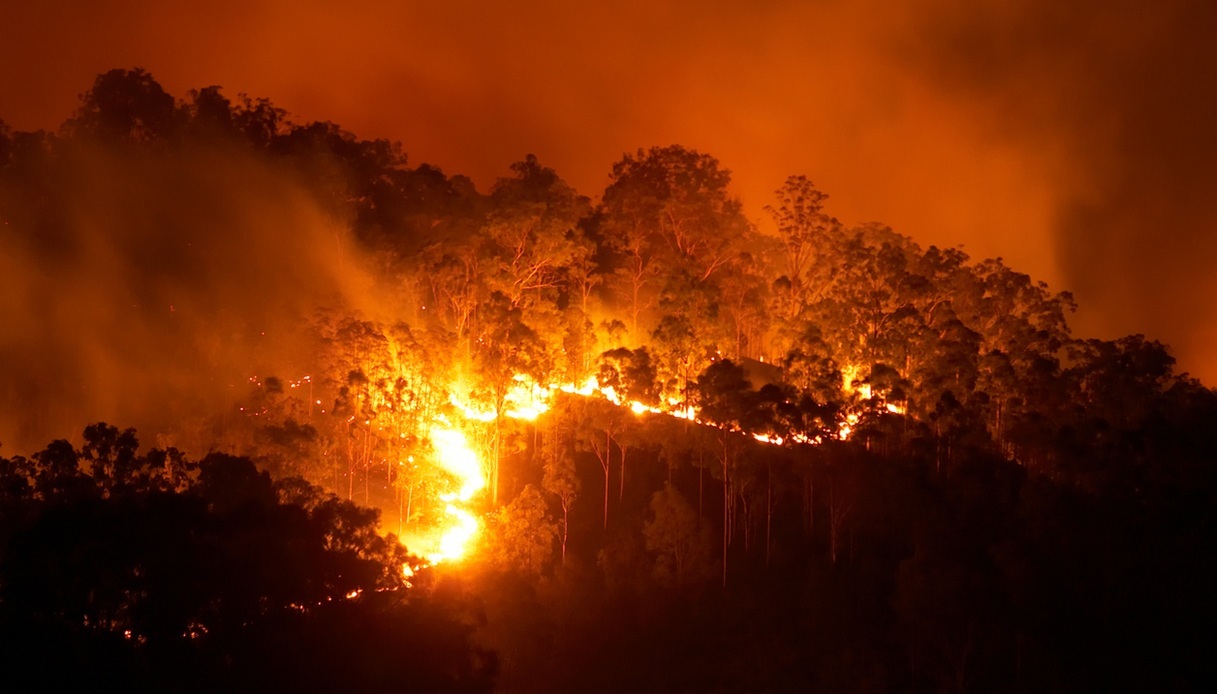
[[[1058,285],[1038,158],[981,138],[969,110],[908,72],[893,45],[910,13],[836,1],[51,2],[13,12],[17,35],[43,40],[0,46],[0,118],[55,128],[95,74],[141,66],[175,95],[219,84],[297,121],[400,140],[411,162],[483,190],[533,152],[595,196],[623,152],[678,142],[730,168],[756,220],[802,173],[847,223],[968,244]]]

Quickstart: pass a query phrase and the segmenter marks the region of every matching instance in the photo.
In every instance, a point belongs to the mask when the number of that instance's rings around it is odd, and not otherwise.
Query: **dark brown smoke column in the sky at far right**
[[[912,52],[936,84],[1043,152],[1079,332],[1145,332],[1212,382],[1217,5],[940,2]]]

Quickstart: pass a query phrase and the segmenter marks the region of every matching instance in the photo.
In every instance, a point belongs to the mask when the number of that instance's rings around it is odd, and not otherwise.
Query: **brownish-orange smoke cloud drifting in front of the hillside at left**
[[[6,454],[198,426],[252,375],[304,375],[307,321],[366,296],[347,228],[264,159],[66,147],[45,173],[49,200],[0,201]]]

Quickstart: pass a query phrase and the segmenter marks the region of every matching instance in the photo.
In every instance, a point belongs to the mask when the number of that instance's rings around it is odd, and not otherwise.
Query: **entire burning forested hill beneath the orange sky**
[[[775,183],[773,234],[679,145],[595,198],[531,155],[478,191],[141,69],[57,133],[0,123],[0,628],[215,685],[286,667],[262,639],[299,625],[284,657],[358,620],[422,649],[427,610],[443,672],[344,651],[368,687],[1211,675],[1213,391],[1151,338],[1072,335],[999,258]],[[470,555],[425,567],[454,519]],[[267,584],[180,567],[190,543]]]

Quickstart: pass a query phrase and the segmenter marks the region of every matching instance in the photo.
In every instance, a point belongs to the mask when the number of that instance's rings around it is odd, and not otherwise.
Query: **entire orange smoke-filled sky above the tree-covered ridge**
[[[846,223],[1002,256],[1217,382],[1217,4],[0,0],[0,119],[56,129],[96,74],[218,84],[399,140],[486,189],[534,152],[596,196],[638,147],[789,174]]]

